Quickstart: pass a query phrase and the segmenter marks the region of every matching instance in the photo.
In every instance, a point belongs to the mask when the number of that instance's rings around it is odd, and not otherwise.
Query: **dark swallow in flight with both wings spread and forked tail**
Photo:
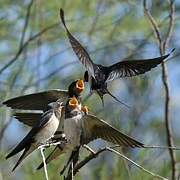
[[[60,18],[62,24],[66,30],[69,42],[72,46],[73,51],[77,55],[79,61],[85,66],[87,71],[84,74],[85,82],[90,83],[90,95],[95,91],[100,96],[102,103],[103,96],[109,94],[116,101],[121,104],[128,106],[118,100],[114,95],[112,95],[107,89],[109,82],[123,77],[132,77],[140,74],[144,74],[150,71],[152,68],[155,68],[158,64],[161,64],[174,49],[167,55],[152,58],[152,59],[141,59],[141,60],[127,60],[120,61],[110,66],[103,66],[101,64],[95,64],[92,60],[86,49],[80,44],[80,42],[71,34],[68,30],[65,20],[64,20],[64,11],[60,9]]]

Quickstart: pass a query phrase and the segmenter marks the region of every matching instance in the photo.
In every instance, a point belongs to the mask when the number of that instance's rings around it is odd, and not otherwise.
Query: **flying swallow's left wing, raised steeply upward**
[[[92,62],[92,60],[91,60],[88,52],[85,50],[85,48],[78,42],[78,40],[75,37],[73,37],[73,35],[68,30],[68,28],[65,24],[65,20],[64,20],[64,11],[62,9],[60,9],[60,18],[66,29],[66,32],[67,32],[67,35],[69,38],[69,42],[73,48],[73,51],[76,53],[80,62],[86,67],[86,69],[91,74],[91,76],[93,76],[95,78],[94,67],[96,65]]]

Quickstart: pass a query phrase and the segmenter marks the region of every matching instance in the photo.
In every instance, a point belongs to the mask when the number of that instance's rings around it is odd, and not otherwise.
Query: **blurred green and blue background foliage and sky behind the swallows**
[[[29,3],[32,3],[29,6]],[[173,34],[167,53],[176,48],[167,62],[170,82],[170,119],[175,146],[180,146],[180,1],[175,2]],[[168,27],[167,1],[149,0],[148,7],[160,24],[164,36]],[[27,9],[29,7],[29,14]],[[96,63],[110,65],[125,58],[141,59],[159,56],[159,47],[152,28],[144,15],[140,0],[1,0],[0,1],[0,100],[45,89],[66,89],[75,79],[82,78],[85,68],[73,53],[59,19],[59,9],[65,11],[69,30],[88,49]],[[22,38],[23,37],[23,38]],[[22,50],[18,52],[19,50]],[[6,64],[12,62],[6,69]],[[134,78],[112,82],[111,92],[131,108],[127,109],[105,96],[105,108],[97,95],[86,102],[90,111],[123,132],[147,145],[166,145],[164,123],[164,88],[161,66]],[[84,99],[89,91],[83,94]],[[33,101],[33,100],[32,100]],[[17,156],[5,160],[5,155],[28,132],[29,127],[12,117],[10,109],[0,109],[0,179],[45,179],[43,171],[35,168],[41,162],[37,150],[13,173]],[[107,143],[98,140],[90,144],[94,149]],[[48,150],[47,150],[48,151]],[[123,149],[124,154],[150,171],[171,177],[167,150]],[[83,150],[80,158],[87,155]],[[176,152],[177,167],[180,153]],[[63,156],[48,165],[50,180],[63,179],[59,172]],[[101,154],[83,167],[75,179],[133,179],[148,180],[152,176],[142,172],[109,152]]]

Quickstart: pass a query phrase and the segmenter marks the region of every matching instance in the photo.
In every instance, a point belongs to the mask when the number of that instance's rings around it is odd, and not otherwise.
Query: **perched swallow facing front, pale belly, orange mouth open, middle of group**
[[[70,98],[67,101],[63,125],[63,133],[65,134],[66,143],[57,145],[52,153],[46,158],[46,163],[48,163],[59,155],[66,153],[65,166],[61,171],[61,174],[71,162],[75,165],[78,160],[82,131],[81,118],[83,115],[80,108],[81,106],[79,106],[79,102],[75,97]],[[37,169],[40,169],[43,165],[44,164],[41,163]]]

